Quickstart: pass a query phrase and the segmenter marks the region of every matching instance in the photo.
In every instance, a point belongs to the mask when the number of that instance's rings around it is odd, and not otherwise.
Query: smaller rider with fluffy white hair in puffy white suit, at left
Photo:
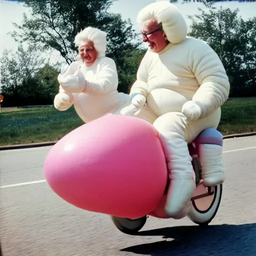
[[[74,39],[80,60],[72,62],[58,75],[59,93],[54,107],[60,111],[73,103],[77,114],[89,122],[107,113],[119,114],[129,104],[129,95],[118,92],[115,62],[105,56],[106,33],[98,28],[86,27]]]

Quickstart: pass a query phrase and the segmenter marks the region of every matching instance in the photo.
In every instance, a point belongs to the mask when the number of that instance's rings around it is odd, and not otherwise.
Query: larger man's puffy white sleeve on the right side
[[[202,40],[196,39],[192,43],[188,62],[199,83],[192,101],[200,106],[200,117],[203,118],[227,100],[229,80],[216,52]]]

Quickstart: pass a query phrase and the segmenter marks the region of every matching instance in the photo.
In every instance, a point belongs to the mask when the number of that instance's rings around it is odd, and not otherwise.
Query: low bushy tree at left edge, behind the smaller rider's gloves
[[[15,53],[4,50],[0,63],[5,106],[52,104],[58,92],[58,63],[52,67],[36,49],[24,50],[22,45]]]

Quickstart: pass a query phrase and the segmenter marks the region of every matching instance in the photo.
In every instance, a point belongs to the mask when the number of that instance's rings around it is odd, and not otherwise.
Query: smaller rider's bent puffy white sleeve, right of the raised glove
[[[118,75],[116,65],[113,59],[103,58],[98,63],[96,79],[86,80],[86,86],[83,92],[91,94],[108,94],[117,89]]]

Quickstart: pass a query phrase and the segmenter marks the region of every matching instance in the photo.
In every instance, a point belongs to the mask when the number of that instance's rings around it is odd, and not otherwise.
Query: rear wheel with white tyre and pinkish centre
[[[208,225],[217,213],[222,195],[222,184],[211,187],[199,184],[196,194],[191,199],[187,217],[196,224]]]

